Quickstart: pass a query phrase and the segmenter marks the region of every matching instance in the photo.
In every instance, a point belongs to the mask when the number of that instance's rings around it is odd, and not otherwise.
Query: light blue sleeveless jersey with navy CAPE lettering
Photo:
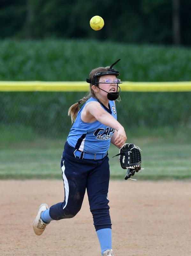
[[[90,101],[98,100],[91,97],[86,101],[86,103]],[[81,112],[85,104],[77,113],[77,118],[70,130],[67,141],[73,148],[84,151],[86,153],[106,153],[110,146],[110,140],[115,130],[106,126],[105,124],[100,123],[99,121],[95,121],[93,123],[84,123],[81,120]],[[110,113],[117,120],[117,112],[115,109],[114,101],[109,100],[110,109],[106,108],[102,103],[100,103],[100,105],[105,109],[105,111]]]

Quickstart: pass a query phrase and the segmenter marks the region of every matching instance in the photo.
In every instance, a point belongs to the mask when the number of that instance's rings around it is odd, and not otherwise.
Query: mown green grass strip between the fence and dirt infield
[[[142,173],[136,174],[138,180],[190,179],[191,144],[189,141],[152,137],[133,140],[142,148]],[[17,144],[0,150],[0,179],[62,179],[60,161],[63,141],[37,140]],[[113,179],[124,179],[118,157],[112,156],[118,149],[109,149],[110,173]]]

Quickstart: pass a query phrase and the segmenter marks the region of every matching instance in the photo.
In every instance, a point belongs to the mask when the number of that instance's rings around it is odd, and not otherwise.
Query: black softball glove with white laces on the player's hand
[[[140,148],[132,143],[126,143],[120,148],[119,161],[123,169],[127,169],[125,180],[130,179],[135,172],[139,172],[141,169],[141,152]],[[114,156],[113,156],[114,157]]]

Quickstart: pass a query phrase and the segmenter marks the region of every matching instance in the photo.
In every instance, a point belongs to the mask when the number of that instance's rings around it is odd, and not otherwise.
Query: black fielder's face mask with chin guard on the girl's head
[[[118,84],[122,84],[120,79],[114,79],[114,81],[110,81],[110,79],[105,79],[102,82],[98,82],[98,77],[100,76],[105,76],[105,75],[115,75],[115,76],[119,76],[119,71],[116,71],[113,66],[120,61],[121,59],[117,60],[114,62],[114,64],[111,65],[111,67],[108,69],[108,71],[104,71],[104,72],[100,72],[100,73],[96,73],[93,76],[93,79],[86,79],[86,82],[92,85],[95,85],[99,88],[99,84],[117,84],[117,92],[107,92],[107,99],[108,100],[116,100],[121,92],[121,88],[119,87]],[[119,87],[119,92],[118,92],[118,87]],[[99,88],[100,90],[106,92],[105,90]]]

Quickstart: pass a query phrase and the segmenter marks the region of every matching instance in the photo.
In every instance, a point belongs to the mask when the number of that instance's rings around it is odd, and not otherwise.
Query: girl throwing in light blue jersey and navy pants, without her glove
[[[41,235],[52,220],[73,218],[80,210],[87,189],[90,211],[101,246],[101,255],[113,256],[111,219],[109,215],[110,142],[121,148],[127,139],[117,121],[115,101],[120,94],[119,72],[113,66],[95,68],[90,73],[87,97],[73,104],[68,111],[74,123],[62,154],[64,202],[41,204],[33,222],[36,235]],[[81,109],[79,105],[84,103]]]

